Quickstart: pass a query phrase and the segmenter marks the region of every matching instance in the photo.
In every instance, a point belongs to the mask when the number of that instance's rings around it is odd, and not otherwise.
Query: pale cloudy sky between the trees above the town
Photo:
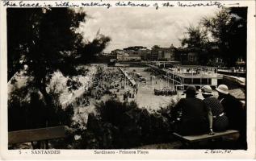
[[[129,46],[153,45],[180,47],[186,27],[197,25],[204,16],[213,16],[215,7],[191,8],[85,8],[86,23],[79,31],[85,39],[94,39],[97,33],[111,37],[104,52]]]

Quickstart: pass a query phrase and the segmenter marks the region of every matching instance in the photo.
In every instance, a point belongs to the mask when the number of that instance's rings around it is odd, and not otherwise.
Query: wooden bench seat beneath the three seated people
[[[173,133],[176,138],[178,138],[181,142],[191,144],[194,142],[202,142],[211,140],[213,138],[222,138],[226,137],[232,134],[239,134],[239,131],[237,130],[226,130],[223,132],[216,132],[214,135],[209,134],[200,134],[200,135],[190,135],[190,136],[183,136],[177,133]]]

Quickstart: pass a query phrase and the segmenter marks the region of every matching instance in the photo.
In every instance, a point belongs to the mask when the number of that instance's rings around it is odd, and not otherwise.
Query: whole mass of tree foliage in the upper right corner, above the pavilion
[[[204,17],[197,27],[187,27],[182,46],[197,52],[203,64],[223,60],[215,63],[235,66],[237,59],[246,60],[246,15],[246,7],[233,7]]]

